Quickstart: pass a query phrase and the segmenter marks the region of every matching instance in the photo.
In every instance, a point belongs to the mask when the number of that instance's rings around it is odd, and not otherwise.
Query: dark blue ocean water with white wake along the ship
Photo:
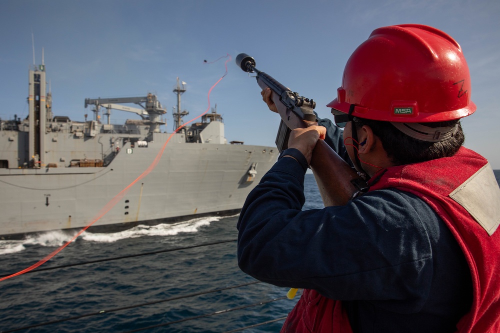
[[[500,170],[495,170],[500,183]],[[304,209],[321,208],[306,175]],[[114,234],[85,233],[37,272],[0,282],[0,332],[279,332],[298,300],[242,273],[237,216]],[[0,276],[44,258],[68,236],[0,241]],[[266,323],[260,326],[252,327]]]

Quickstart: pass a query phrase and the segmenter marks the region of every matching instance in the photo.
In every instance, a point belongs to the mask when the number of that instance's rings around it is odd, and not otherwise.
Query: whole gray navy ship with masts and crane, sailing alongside
[[[34,66],[28,116],[0,120],[1,239],[95,220],[89,231],[234,214],[277,158],[274,147],[226,142],[216,107],[165,133],[166,111],[153,94],[85,99],[92,120],[74,121],[53,115],[46,86],[44,65]],[[178,128],[188,113],[178,78],[173,92]],[[137,119],[111,124],[111,112]]]

